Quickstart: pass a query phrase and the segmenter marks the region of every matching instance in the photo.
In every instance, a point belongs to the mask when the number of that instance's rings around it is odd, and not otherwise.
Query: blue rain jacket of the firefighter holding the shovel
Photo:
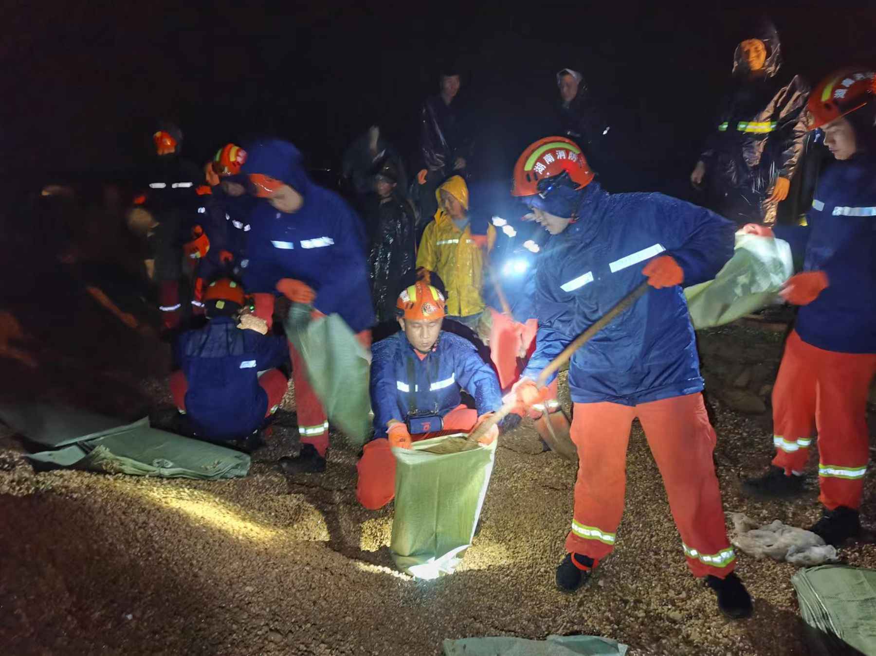
[[[733,254],[734,227],[707,209],[663,194],[608,194],[594,181],[578,220],[551,236],[535,280],[533,380],[577,335],[645,281],[642,268],[671,255],[684,285],[715,277]],[[635,406],[703,390],[696,337],[682,287],[649,289],[578,349],[569,363],[576,403]]]

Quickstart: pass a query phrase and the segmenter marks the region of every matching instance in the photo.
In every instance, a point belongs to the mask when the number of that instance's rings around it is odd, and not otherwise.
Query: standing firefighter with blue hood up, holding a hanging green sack
[[[359,341],[371,346],[374,307],[362,221],[340,196],[314,184],[295,146],[278,139],[251,145],[241,169],[258,202],[251,211],[244,286],[255,314],[272,323],[282,292],[314,306],[314,318],[339,314]],[[282,281],[282,282],[281,282]],[[322,471],[329,420],[307,380],[301,354],[290,344],[301,452],[280,461],[286,473]]]

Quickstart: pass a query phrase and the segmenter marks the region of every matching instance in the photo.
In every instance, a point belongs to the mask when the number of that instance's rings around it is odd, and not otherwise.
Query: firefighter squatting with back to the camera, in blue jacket
[[[244,289],[219,279],[204,293],[208,324],[177,338],[180,370],[170,377],[173,402],[195,434],[210,440],[246,440],[277,410],[288,379],[282,337],[240,328]],[[244,324],[240,324],[244,325]]]

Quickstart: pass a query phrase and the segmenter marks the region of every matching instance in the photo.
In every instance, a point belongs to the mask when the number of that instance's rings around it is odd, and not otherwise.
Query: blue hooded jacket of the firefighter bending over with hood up
[[[258,199],[250,215],[244,288],[276,293],[279,279],[301,280],[316,292],[314,307],[340,314],[353,332],[374,324],[362,221],[340,196],[314,184],[292,144],[277,139],[246,149],[243,173],[283,180],[304,197],[284,214]]]

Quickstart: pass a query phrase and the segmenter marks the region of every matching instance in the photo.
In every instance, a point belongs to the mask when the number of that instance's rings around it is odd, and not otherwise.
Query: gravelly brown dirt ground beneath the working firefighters
[[[7,399],[54,399],[132,420],[169,406],[168,348],[58,283],[52,304],[19,298],[0,313]],[[59,309],[60,308],[60,309]],[[63,320],[59,319],[63,314]],[[775,363],[781,334],[724,328],[701,350]],[[753,350],[752,350],[753,349]],[[708,355],[707,355],[708,354]],[[742,357],[745,360],[745,357]],[[568,399],[567,399],[568,400]],[[808,526],[816,481],[793,504],[740,496],[740,477],[772,455],[769,413],[742,415],[710,390],[727,511]],[[293,393],[280,420],[293,424]],[[555,589],[576,467],[541,453],[528,420],[499,443],[481,530],[454,575],[414,581],[392,567],[392,504],[357,504],[357,452],[335,439],[323,475],[286,478],[288,425],[219,483],[55,470],[35,474],[0,437],[0,652],[8,654],[436,654],[444,638],[585,633],[631,653],[806,653],[795,568],[738,555],[755,613],[725,620],[684,564],[661,477],[638,425],[628,455],[618,546],[590,585]],[[865,482],[865,524],[874,513]],[[876,567],[868,540],[844,561]]]

